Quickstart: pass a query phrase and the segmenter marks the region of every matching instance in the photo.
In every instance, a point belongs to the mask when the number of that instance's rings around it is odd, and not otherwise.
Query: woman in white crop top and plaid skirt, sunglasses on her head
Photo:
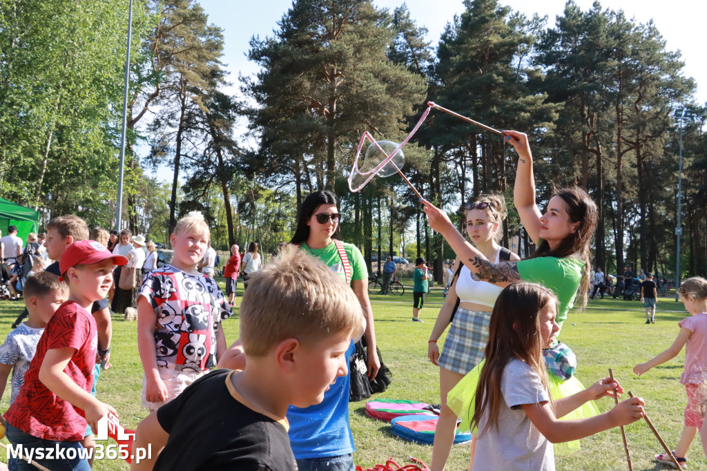
[[[477,201],[465,205],[464,209],[465,233],[486,260],[494,263],[520,260],[518,255],[498,245],[503,233],[503,219],[507,214],[503,195],[482,194]],[[457,270],[450,275],[450,290],[428,341],[429,359],[440,367],[442,403],[432,449],[433,470],[444,469],[457,428],[457,414],[447,406],[447,395],[464,375],[484,359],[491,310],[502,291],[502,288],[474,276],[458,258],[455,265]],[[450,323],[452,327],[440,355],[437,341]],[[475,441],[472,443],[472,456],[474,444]]]

